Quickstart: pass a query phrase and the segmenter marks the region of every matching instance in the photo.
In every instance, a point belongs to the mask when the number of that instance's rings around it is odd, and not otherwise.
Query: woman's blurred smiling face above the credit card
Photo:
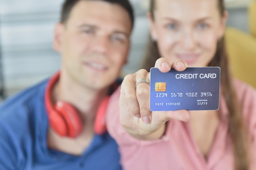
[[[150,32],[161,57],[184,60],[189,67],[207,66],[227,20],[227,12],[220,15],[218,0],[155,0],[155,5]]]

